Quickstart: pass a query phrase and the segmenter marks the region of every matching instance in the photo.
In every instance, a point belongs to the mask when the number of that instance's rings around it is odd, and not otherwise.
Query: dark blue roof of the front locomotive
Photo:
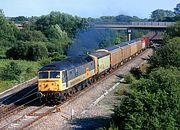
[[[45,65],[42,67],[39,71],[45,71],[45,70],[70,70],[72,68],[81,66],[83,64],[86,64],[88,62],[93,61],[92,57],[90,56],[82,56],[82,57],[76,57],[76,58],[69,58],[63,61],[56,61],[51,64]]]

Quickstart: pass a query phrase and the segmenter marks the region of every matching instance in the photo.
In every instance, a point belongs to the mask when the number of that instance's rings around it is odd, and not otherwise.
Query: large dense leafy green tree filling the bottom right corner
[[[114,121],[119,129],[178,129],[180,71],[160,68],[141,79],[125,93],[115,107]]]

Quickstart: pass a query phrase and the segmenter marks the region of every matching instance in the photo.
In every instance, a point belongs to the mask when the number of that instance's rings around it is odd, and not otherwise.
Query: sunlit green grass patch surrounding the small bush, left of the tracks
[[[38,62],[25,61],[25,60],[10,60],[10,59],[1,59],[0,60],[0,70],[3,69],[10,62],[16,62],[22,69],[22,73],[19,77],[19,81],[2,81],[0,80],[0,92],[11,88],[12,86],[32,79],[37,76],[37,71],[40,68]]]

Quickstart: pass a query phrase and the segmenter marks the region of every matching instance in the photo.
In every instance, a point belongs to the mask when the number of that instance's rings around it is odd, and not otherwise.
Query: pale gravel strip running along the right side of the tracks
[[[107,90],[112,88],[119,81],[119,75],[128,73],[132,67],[141,66],[143,59],[152,55],[152,50],[147,50],[143,55],[130,61],[128,64],[119,68],[113,75],[98,83],[86,93],[81,93],[76,100],[67,102],[62,105],[61,112],[55,112],[43,118],[41,121],[34,124],[32,130],[69,130],[69,129],[96,129],[104,126],[111,120],[112,108],[116,104],[117,97],[113,91],[109,94]],[[103,99],[99,103],[94,104],[102,95]],[[74,110],[74,116],[71,120],[71,112]]]

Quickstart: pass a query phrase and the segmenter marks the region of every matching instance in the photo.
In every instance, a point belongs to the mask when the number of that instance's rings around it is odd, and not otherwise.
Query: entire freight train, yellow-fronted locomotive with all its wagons
[[[148,36],[97,50],[87,56],[57,61],[38,72],[38,96],[61,102],[117,69],[149,47]]]

